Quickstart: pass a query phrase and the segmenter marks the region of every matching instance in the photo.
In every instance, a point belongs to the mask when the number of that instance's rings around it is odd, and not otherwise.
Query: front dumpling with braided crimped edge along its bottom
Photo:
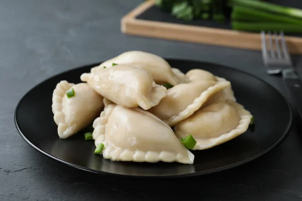
[[[112,161],[174,162],[192,164],[194,155],[173,130],[139,108],[109,105],[94,123],[95,145],[104,144],[103,157]]]

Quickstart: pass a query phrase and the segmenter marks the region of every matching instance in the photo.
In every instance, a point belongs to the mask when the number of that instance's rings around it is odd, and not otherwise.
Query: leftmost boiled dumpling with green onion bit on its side
[[[73,88],[74,96],[68,98],[66,91]],[[103,97],[87,83],[73,84],[60,81],[52,94],[53,120],[58,135],[65,139],[91,124],[104,107]]]

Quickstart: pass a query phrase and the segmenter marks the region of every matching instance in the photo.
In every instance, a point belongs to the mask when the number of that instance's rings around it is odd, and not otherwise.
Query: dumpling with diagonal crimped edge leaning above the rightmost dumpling
[[[160,104],[148,110],[169,126],[190,117],[230,82],[199,81],[178,84],[167,91]]]

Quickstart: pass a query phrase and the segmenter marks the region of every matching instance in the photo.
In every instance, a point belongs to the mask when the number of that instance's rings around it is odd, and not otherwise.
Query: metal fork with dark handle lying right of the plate
[[[267,45],[268,43],[268,45]],[[292,66],[283,32],[261,32],[262,58],[268,74],[282,74],[300,118],[302,119],[302,81]],[[269,48],[267,48],[269,46]]]

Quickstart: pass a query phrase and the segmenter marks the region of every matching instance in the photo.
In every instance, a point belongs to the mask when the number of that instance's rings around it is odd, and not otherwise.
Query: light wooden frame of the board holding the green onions
[[[121,20],[121,31],[124,34],[161,38],[176,41],[203,43],[250,50],[261,50],[259,33],[234,31],[230,25],[194,25],[169,22],[169,20],[147,20],[139,18],[144,12],[155,8],[155,0],[149,0],[124,16]],[[158,9],[159,10],[159,9]],[[162,12],[164,13],[164,12]],[[173,18],[165,14],[166,18]],[[293,54],[302,54],[302,37],[286,36],[288,49]]]

